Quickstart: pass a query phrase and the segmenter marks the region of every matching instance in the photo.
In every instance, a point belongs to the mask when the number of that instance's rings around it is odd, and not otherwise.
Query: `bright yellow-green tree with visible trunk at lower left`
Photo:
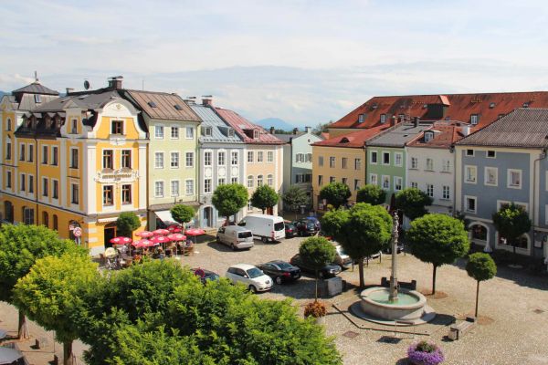
[[[65,365],[73,364],[72,342],[78,339],[69,316],[79,310],[83,292],[99,275],[97,264],[88,256],[48,256],[37,260],[14,288],[17,307],[43,328],[55,330],[56,339],[63,343]]]

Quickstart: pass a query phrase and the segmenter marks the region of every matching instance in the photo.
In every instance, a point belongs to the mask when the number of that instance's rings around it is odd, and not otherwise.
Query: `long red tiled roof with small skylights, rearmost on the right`
[[[469,122],[472,114],[478,114],[478,127],[483,128],[501,114],[522,108],[524,104],[532,108],[548,108],[548,91],[374,97],[332,123],[329,128],[371,128],[380,125],[381,114],[386,114],[386,122],[393,115],[400,114],[405,114],[409,119],[420,117],[421,120],[433,120],[427,118],[427,104],[446,105],[444,118],[437,120]],[[359,122],[360,114],[365,114],[362,123]]]

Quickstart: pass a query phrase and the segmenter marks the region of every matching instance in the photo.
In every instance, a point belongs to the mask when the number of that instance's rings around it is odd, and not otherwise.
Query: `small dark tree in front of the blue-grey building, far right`
[[[516,245],[519,238],[531,230],[531,219],[523,208],[514,203],[504,204],[499,212],[493,214],[493,225],[499,235],[508,240],[513,247],[514,264],[517,261]]]

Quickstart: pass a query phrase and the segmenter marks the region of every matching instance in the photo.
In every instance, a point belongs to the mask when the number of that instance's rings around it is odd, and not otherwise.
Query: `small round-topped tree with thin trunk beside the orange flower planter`
[[[318,270],[335,259],[335,246],[325,237],[310,237],[302,241],[299,247],[300,259],[316,272],[315,300],[318,300]]]

